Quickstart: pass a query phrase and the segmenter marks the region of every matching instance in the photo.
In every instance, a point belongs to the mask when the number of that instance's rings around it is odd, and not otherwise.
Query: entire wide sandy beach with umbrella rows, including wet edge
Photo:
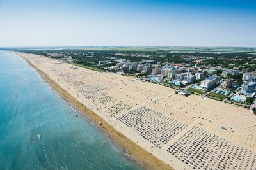
[[[15,53],[145,169],[256,167],[256,117],[245,108]]]

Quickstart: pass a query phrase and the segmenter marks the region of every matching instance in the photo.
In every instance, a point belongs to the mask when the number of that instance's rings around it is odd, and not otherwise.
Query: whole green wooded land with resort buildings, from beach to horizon
[[[197,94],[255,111],[256,55],[109,50],[20,50],[65,60],[96,71],[159,83],[177,94]]]

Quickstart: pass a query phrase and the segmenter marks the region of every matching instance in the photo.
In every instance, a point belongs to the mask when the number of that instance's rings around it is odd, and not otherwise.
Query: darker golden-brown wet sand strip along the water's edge
[[[10,51],[9,51],[10,52]],[[112,125],[108,124],[103,118],[101,118],[97,113],[93,112],[80,101],[78,101],[75,97],[69,94],[65,89],[63,89],[58,83],[52,80],[46,73],[32,64],[28,59],[20,55],[19,53],[15,53],[19,55],[23,59],[28,62],[29,66],[33,67],[42,78],[52,87],[52,89],[57,92],[57,94],[63,99],[67,99],[68,103],[71,106],[79,111],[79,113],[83,114],[89,120],[100,129],[100,131],[104,132],[116,145],[118,145],[123,152],[127,153],[132,160],[134,160],[137,164],[139,164],[143,169],[173,169],[168,164],[164,163],[162,160],[157,159],[152,153],[147,152],[147,150],[141,148],[136,143],[131,141],[131,139],[127,138],[124,134],[117,131]],[[102,122],[102,125],[99,124]]]

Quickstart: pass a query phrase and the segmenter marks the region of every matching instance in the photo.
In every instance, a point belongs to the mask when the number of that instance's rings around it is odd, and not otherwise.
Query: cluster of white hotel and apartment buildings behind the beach
[[[198,57],[191,57],[191,59],[198,59]],[[196,64],[161,63],[154,60],[141,60],[140,62],[115,60],[118,63],[108,69],[115,69],[116,73],[124,75],[135,70],[137,73],[132,75],[138,77],[138,80],[174,87],[178,94],[184,96],[199,94],[247,108],[250,108],[255,97],[256,72],[226,69],[221,66],[203,68]],[[108,63],[109,61],[99,62],[99,64]]]

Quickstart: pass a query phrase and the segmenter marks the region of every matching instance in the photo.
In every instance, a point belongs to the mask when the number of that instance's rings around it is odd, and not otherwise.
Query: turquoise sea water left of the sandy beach
[[[0,169],[141,169],[21,57],[0,51]]]

